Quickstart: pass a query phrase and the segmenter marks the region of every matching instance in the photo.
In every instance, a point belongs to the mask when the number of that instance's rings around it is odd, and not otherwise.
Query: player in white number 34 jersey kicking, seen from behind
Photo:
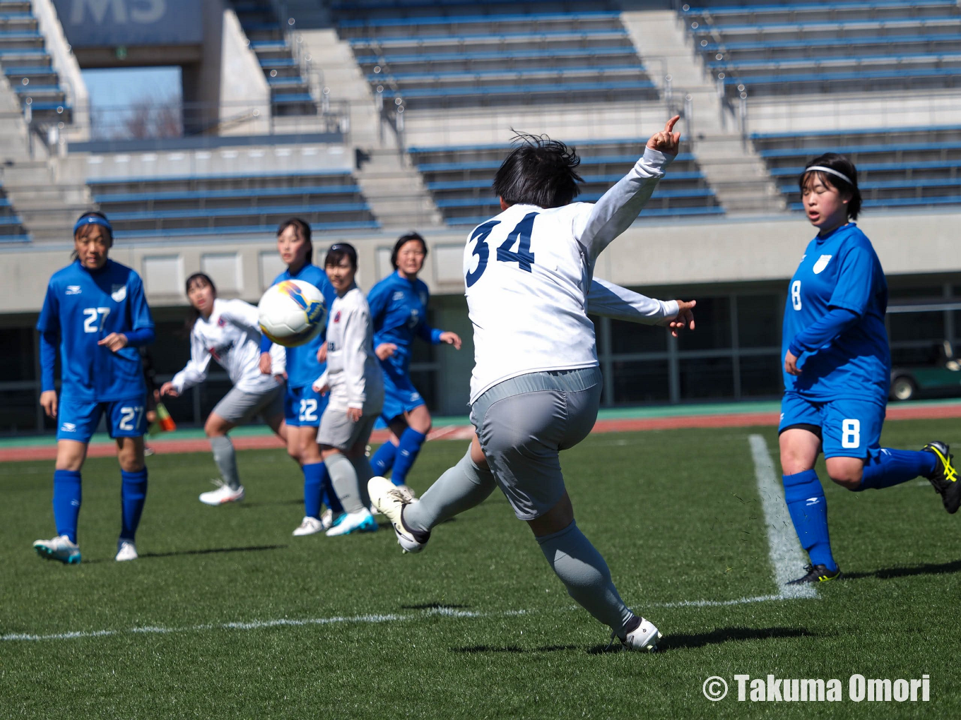
[[[628,609],[604,558],[578,529],[558,451],[587,436],[600,405],[602,378],[587,317],[592,291],[602,305],[630,304],[614,286],[592,282],[595,262],[634,221],[677,155],[677,121],[653,134],[644,156],[597,204],[572,204],[580,180],[573,150],[521,137],[494,179],[501,214],[475,228],[464,250],[476,442],[419,501],[382,478],[368,486],[401,547],[419,552],[437,523],[474,507],[496,484],[529,523],[571,597],[631,649],[654,649],[660,633]],[[675,332],[693,328],[693,303],[656,302],[656,309],[638,302],[635,319],[670,324]]]

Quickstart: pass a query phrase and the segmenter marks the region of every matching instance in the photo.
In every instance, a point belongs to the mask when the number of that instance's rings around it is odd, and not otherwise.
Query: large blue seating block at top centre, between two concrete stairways
[[[371,12],[375,9],[377,12]],[[406,108],[657,97],[609,2],[334,6],[368,82]]]

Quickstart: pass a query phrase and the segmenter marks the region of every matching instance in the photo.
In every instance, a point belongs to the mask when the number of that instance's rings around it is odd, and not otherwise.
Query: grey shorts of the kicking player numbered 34
[[[601,405],[601,370],[531,372],[495,385],[471,406],[471,422],[514,515],[532,520],[564,495],[560,450],[590,433]]]

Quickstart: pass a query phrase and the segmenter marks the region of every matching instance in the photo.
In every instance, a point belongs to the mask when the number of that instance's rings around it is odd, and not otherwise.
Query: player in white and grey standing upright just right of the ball
[[[317,443],[331,474],[333,492],[344,507],[343,515],[327,531],[328,537],[334,537],[377,530],[368,509],[367,481],[374,471],[366,449],[383,407],[383,377],[374,354],[370,307],[354,281],[354,246],[332,245],[324,259],[324,270],[337,297],[327,320],[327,344],[317,351],[318,361],[327,360],[327,370],[314,382],[313,390],[331,396],[320,419]]]

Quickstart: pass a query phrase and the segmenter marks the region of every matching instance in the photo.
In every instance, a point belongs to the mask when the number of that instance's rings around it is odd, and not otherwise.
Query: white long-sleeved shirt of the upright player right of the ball
[[[365,415],[381,412],[383,377],[374,354],[374,324],[367,299],[357,285],[331,303],[327,370],[314,385],[330,387],[329,410],[359,408]]]

